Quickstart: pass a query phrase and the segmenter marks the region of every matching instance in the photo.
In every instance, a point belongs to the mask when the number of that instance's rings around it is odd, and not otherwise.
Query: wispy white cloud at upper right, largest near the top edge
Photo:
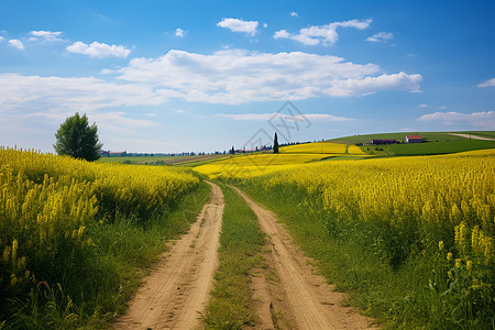
[[[364,30],[370,26],[373,20],[351,20],[344,22],[333,22],[326,25],[309,26],[300,29],[298,34],[290,34],[286,30],[280,30],[275,32],[275,38],[292,38],[300,42],[304,45],[315,46],[318,44],[323,44],[326,46],[333,45],[338,38],[337,33],[338,28],[354,28],[358,30]]]

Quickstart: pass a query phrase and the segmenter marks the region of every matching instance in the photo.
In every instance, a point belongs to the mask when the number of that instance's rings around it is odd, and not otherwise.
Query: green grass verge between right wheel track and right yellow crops
[[[317,261],[327,279],[334,283],[338,290],[350,294],[350,304],[375,318],[382,327],[493,329],[495,319],[490,315],[457,318],[460,309],[469,309],[472,301],[483,308],[493,306],[493,298],[469,296],[462,289],[462,285],[470,286],[465,283],[470,280],[469,276],[446,280],[449,266],[444,253],[438,253],[437,246],[426,248],[425,254],[413,249],[406,262],[393,267],[383,249],[386,243],[381,239],[387,234],[385,227],[377,230],[359,221],[337,221],[336,228],[330,230],[328,223],[333,223],[332,216],[324,212],[318,201],[309,206],[300,204],[307,191],[284,187],[272,187],[266,191],[263,179],[240,182],[239,185],[277,215],[305,254]],[[491,315],[493,317],[493,312]]]

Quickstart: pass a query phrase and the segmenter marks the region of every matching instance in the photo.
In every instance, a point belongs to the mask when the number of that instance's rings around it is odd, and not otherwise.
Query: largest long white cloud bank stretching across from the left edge
[[[386,74],[375,64],[337,56],[242,50],[211,55],[169,51],[157,58],[133,58],[112,73],[106,79],[0,74],[0,112],[158,106],[173,98],[240,105],[350,97],[418,91],[421,80],[420,75]]]

